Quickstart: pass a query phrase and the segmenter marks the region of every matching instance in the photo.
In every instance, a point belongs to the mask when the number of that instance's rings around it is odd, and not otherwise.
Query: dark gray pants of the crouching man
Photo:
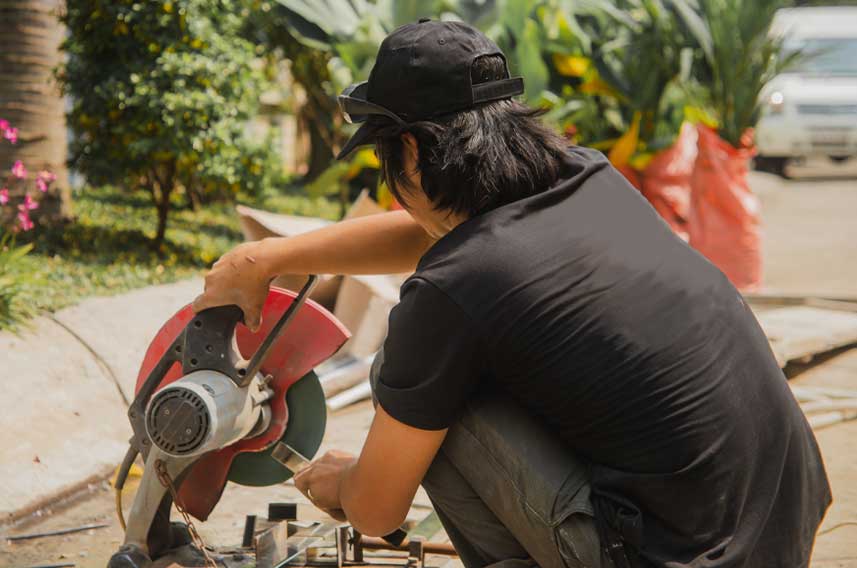
[[[372,384],[383,361],[372,366]],[[468,403],[423,479],[468,568],[601,567],[588,468],[508,396]]]

